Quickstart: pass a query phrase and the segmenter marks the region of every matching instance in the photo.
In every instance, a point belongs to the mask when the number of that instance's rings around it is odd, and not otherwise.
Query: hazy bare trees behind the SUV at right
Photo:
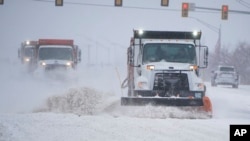
[[[240,75],[241,84],[250,84],[250,44],[239,42],[232,50],[229,46],[223,46],[209,53],[209,65],[206,70],[206,79],[210,80],[211,71],[215,70],[218,65],[235,66]]]

